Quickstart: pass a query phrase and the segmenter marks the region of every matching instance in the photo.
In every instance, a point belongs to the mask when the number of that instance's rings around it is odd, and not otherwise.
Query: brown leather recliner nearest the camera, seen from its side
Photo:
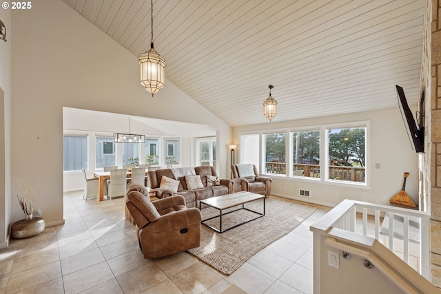
[[[127,186],[127,202],[136,226],[144,258],[161,258],[201,244],[201,211],[187,208],[183,196],[150,202],[147,189]]]

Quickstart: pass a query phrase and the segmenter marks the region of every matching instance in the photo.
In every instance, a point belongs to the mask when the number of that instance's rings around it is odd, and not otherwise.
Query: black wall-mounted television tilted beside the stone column
[[[398,105],[400,106],[401,116],[407,129],[407,135],[411,141],[414,152],[424,152],[424,125],[417,125],[413,118],[411,109],[407,104],[404,90],[399,85],[397,87]],[[421,121],[421,120],[420,120]]]

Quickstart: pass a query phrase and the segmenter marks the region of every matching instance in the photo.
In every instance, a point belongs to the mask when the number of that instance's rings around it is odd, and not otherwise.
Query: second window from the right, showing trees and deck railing
[[[320,129],[291,132],[293,176],[320,178]]]

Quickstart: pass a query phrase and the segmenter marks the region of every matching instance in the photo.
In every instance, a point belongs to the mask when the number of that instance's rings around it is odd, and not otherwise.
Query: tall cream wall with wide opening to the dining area
[[[47,224],[63,222],[63,107],[212,125],[229,143],[231,127],[170,81],[152,98],[137,57],[62,1],[14,10],[12,23],[12,178],[32,183]],[[221,176],[228,154],[218,155]],[[22,217],[12,205],[11,221]]]

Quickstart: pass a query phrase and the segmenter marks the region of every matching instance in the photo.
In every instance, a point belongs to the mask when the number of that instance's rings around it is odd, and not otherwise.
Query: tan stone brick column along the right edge
[[[431,273],[432,283],[441,288],[441,3],[432,0],[431,89],[428,120],[429,162],[431,174]],[[429,97],[427,97],[429,98]],[[427,105],[428,106],[428,105]],[[427,158],[427,157],[426,157]]]

